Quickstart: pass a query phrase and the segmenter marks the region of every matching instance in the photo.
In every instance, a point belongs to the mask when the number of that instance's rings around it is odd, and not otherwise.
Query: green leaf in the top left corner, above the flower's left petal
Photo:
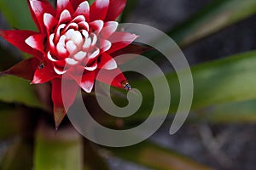
[[[32,21],[26,1],[0,1],[1,13],[9,22],[9,26],[22,30],[34,30],[36,26]]]

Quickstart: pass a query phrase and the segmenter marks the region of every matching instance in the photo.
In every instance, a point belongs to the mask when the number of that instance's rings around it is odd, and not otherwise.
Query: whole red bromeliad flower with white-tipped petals
[[[0,35],[34,57],[21,61],[6,74],[31,79],[33,84],[51,82],[55,125],[66,115],[61,94],[61,78],[69,83],[68,106],[77,90],[90,93],[100,70],[118,73],[113,82],[99,81],[130,89],[112,54],[133,42],[137,35],[117,31],[114,21],[125,8],[126,0],[57,0],[56,10],[46,0],[28,0],[38,31],[0,31]],[[78,72],[83,73],[82,78]]]

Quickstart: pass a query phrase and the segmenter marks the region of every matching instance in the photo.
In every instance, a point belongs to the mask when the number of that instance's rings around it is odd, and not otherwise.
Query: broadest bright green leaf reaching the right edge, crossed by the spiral
[[[192,67],[191,71],[194,80],[192,110],[256,99],[255,51],[196,65]],[[161,77],[156,77],[155,81],[158,81],[158,79],[160,80]],[[169,82],[171,91],[170,112],[172,113],[177,111],[180,99],[180,85],[176,73],[166,74],[166,79]],[[139,89],[143,94],[143,105],[141,105],[137,114],[127,119],[130,121],[144,119],[152,109],[148,105],[154,105],[154,89],[148,80],[136,81],[133,79],[130,82],[134,88]],[[118,105],[126,105],[127,103],[126,99],[118,96],[113,99]]]

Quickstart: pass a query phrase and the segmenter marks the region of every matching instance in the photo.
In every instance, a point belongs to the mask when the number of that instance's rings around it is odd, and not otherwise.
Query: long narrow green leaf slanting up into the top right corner
[[[180,26],[169,31],[168,35],[177,44],[186,46],[255,13],[255,0],[215,0]]]

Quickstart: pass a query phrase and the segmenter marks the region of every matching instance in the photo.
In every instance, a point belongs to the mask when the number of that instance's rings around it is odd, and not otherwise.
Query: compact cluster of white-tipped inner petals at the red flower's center
[[[100,54],[97,43],[96,32],[89,32],[89,24],[85,22],[84,16],[79,15],[68,25],[58,26],[56,32],[49,36],[50,49],[55,48],[57,54],[54,54],[54,50],[50,50],[48,58],[54,62],[64,59],[67,65],[80,64],[84,65],[85,69],[92,71],[96,69],[94,63]],[[65,71],[57,71],[57,73],[63,74]]]

